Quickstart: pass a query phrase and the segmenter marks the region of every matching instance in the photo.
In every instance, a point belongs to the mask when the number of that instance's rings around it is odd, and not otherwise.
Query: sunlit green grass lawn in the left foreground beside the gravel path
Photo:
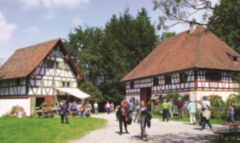
[[[106,122],[96,118],[70,118],[70,124],[61,124],[59,118],[0,118],[0,142],[65,143],[104,127]]]

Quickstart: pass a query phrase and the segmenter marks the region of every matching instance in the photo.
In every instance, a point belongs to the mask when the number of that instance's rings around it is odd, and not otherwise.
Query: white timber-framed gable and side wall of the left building
[[[77,87],[76,75],[65,56],[62,48],[57,45],[29,76],[0,81],[0,98],[54,96],[59,94],[55,88],[66,85]],[[63,84],[64,82],[69,84]]]

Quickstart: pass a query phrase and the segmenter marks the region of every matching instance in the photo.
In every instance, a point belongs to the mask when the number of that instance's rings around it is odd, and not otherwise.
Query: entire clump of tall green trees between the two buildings
[[[142,9],[136,17],[128,10],[113,15],[103,29],[78,27],[66,45],[88,81],[81,84],[83,90],[95,98],[119,101],[124,95],[120,80],[152,51],[156,41],[154,26]]]

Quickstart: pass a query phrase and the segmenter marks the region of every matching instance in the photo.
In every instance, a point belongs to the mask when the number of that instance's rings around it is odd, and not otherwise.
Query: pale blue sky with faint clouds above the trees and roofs
[[[159,11],[153,11],[152,0],[1,0],[0,61],[25,46],[54,38],[68,37],[77,25],[103,27],[113,14],[126,8],[136,15],[146,8],[154,25]],[[181,32],[187,25],[171,31]]]

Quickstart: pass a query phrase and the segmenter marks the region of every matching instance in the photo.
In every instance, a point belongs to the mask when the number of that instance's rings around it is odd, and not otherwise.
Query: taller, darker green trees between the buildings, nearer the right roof
[[[124,95],[121,78],[132,70],[155,47],[156,34],[145,9],[136,18],[128,9],[113,15],[105,27],[102,60],[104,82],[101,91],[108,100],[119,101]]]

